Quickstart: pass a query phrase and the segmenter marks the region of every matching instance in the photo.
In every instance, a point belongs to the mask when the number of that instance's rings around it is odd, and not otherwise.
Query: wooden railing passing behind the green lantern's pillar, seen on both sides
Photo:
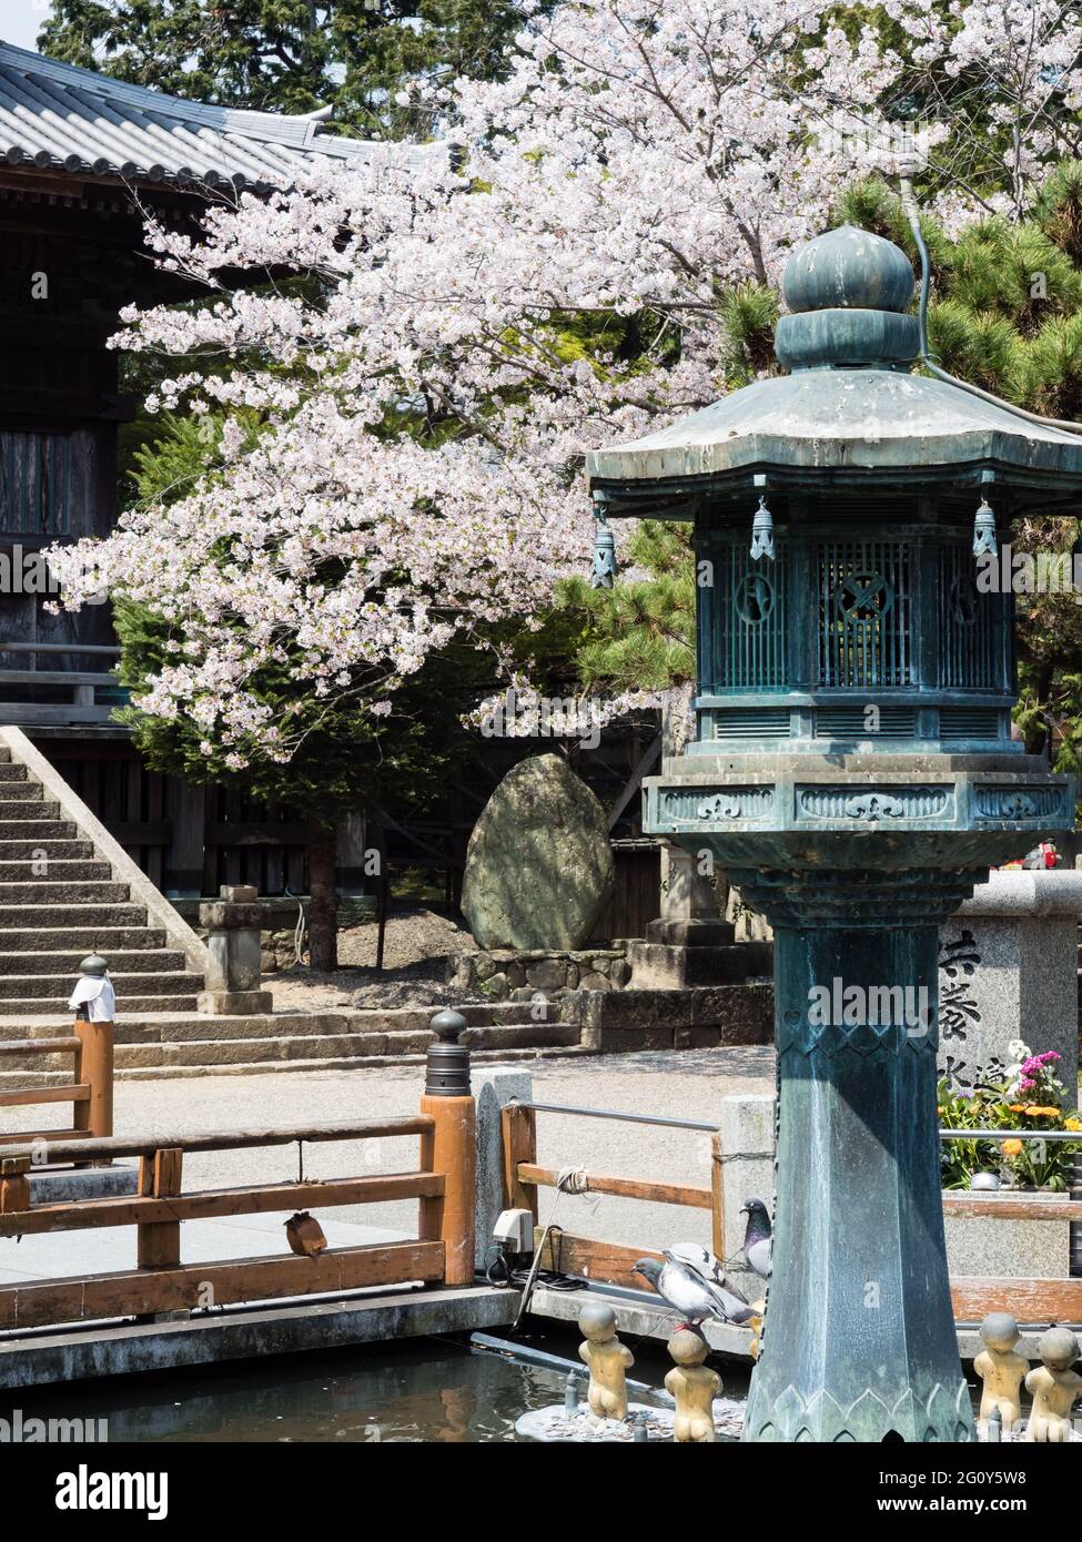
[[[647,1200],[659,1204],[685,1204],[691,1209],[710,1210],[713,1252],[725,1261],[725,1209],[724,1209],[724,1161],[721,1133],[708,1124],[691,1119],[653,1118],[648,1115],[622,1115],[617,1110],[557,1107],[554,1104],[514,1103],[503,1109],[503,1203],[506,1207],[528,1209],[537,1221],[537,1190],[556,1184],[559,1172],[537,1163],[537,1112],[559,1112],[583,1118],[620,1119],[636,1124],[662,1124],[685,1130],[710,1133],[710,1184],[651,1183],[639,1178],[611,1177],[608,1173],[585,1175],[593,1194],[611,1194],[627,1200]],[[1017,1135],[1033,1136],[1033,1132],[989,1132],[996,1138]],[[966,1132],[972,1138],[972,1132]],[[982,1135],[983,1138],[983,1135]],[[733,1158],[739,1153],[732,1153]],[[989,1203],[991,1201],[991,1203]],[[1082,1203],[1050,1200],[1037,1194],[1011,1192],[999,1195],[945,1194],[943,1212],[982,1220],[1025,1221],[1082,1221]],[[659,1258],[656,1247],[624,1246],[556,1231],[545,1243],[540,1266],[562,1274],[577,1275],[594,1284],[617,1284],[642,1289],[642,1281],[631,1272],[637,1258]],[[732,1260],[729,1261],[732,1264]],[[1020,1321],[1082,1321],[1082,1280],[1028,1280],[983,1278],[962,1275],[951,1280],[955,1321],[979,1321],[988,1312],[1011,1312]]]

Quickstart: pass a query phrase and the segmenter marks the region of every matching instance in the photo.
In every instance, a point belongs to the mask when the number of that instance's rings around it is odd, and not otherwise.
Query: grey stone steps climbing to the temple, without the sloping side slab
[[[202,976],[131,893],[131,882],[0,746],[0,1021],[69,1021],[88,953],[103,953],[120,1015],[194,1012]]]

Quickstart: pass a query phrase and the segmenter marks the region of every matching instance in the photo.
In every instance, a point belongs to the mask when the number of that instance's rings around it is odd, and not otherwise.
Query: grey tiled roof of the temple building
[[[320,156],[372,157],[372,140],[284,117],[184,102],[0,42],[0,157],[9,165],[178,187],[289,187]],[[426,154],[415,146],[414,156]]]

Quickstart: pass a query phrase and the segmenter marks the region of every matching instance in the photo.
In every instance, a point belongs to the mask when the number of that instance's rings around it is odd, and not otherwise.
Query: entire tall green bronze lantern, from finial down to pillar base
[[[871,231],[801,247],[783,290],[787,373],[587,456],[610,520],[687,521],[713,575],[696,732],[644,782],[644,831],[708,851],[775,933],[776,1204],[742,1439],[974,1440],[938,934],[1074,817],[1073,779],[1011,737],[1014,595],[977,586],[996,518],[982,504],[974,532],[974,504],[994,481],[1000,520],[1077,518],[1082,438],[912,373],[914,271]]]

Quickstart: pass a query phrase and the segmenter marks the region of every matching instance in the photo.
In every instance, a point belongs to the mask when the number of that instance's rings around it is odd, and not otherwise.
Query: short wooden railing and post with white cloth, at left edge
[[[19,1109],[39,1103],[71,1103],[74,1115],[69,1127],[56,1130],[15,1130],[0,1133],[0,1147],[46,1141],[54,1160],[59,1141],[100,1140],[113,1133],[113,1024],[76,1022],[73,1032],[52,1039],[0,1041],[0,1061],[29,1055],[71,1055],[74,1073],[69,1082],[56,1087],[3,1087],[0,1109]],[[79,1160],[86,1147],[80,1146]]]

